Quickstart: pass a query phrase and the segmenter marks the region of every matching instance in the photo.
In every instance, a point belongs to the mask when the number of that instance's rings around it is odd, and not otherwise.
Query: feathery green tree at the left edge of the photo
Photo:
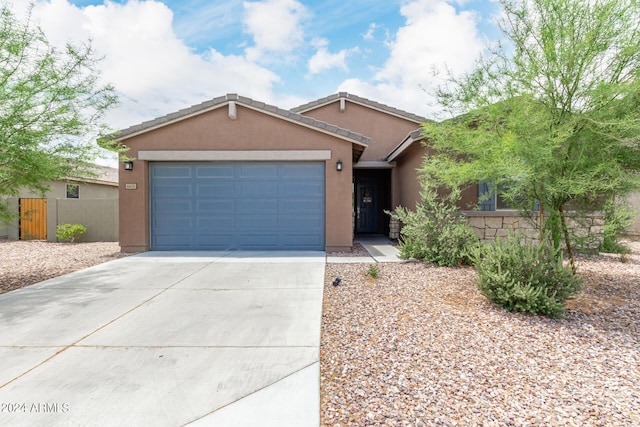
[[[0,219],[12,216],[1,199],[20,189],[44,196],[46,181],[91,176],[117,101],[97,64],[90,45],[57,49],[0,6]]]

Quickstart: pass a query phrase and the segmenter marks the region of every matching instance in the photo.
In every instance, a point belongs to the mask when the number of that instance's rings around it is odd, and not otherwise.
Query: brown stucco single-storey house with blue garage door
[[[395,235],[385,211],[420,199],[425,121],[341,92],[291,110],[227,94],[131,126],[117,137],[135,159],[120,167],[120,246],[341,250],[354,234]],[[523,224],[502,208],[467,212],[479,238]]]

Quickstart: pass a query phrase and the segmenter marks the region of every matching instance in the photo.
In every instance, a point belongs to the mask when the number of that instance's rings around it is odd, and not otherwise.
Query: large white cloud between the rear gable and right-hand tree
[[[390,44],[390,55],[371,81],[349,79],[339,90],[433,116],[430,93],[439,83],[434,73],[468,71],[483,50],[478,17],[457,12],[445,0],[414,0],[400,9],[405,25]]]

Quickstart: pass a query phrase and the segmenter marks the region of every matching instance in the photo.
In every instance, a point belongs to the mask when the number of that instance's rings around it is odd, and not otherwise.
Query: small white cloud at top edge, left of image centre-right
[[[308,11],[297,0],[264,0],[244,2],[245,31],[253,37],[254,46],[245,50],[249,60],[261,60],[267,54],[282,55],[302,45],[302,23]]]

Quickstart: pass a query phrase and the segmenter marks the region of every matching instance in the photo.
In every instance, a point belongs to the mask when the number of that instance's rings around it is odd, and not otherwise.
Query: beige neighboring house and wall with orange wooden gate
[[[0,238],[57,241],[59,224],[82,224],[81,242],[118,240],[118,170],[96,166],[97,176],[47,182],[46,197],[21,191],[8,198],[15,221],[0,223]]]

